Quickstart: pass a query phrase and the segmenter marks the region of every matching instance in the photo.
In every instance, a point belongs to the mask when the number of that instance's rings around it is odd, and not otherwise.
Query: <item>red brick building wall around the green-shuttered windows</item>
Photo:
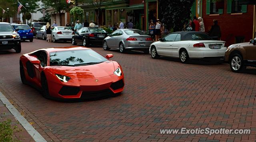
[[[202,18],[204,19],[205,31],[211,29],[213,19],[218,19],[218,25],[221,30],[221,40],[226,41],[226,45],[232,45],[236,42],[236,36],[244,36],[245,42],[252,39],[253,29],[253,5],[247,6],[247,13],[242,15],[227,14],[227,4],[225,0],[223,14],[219,16],[206,15],[206,2],[203,1]]]

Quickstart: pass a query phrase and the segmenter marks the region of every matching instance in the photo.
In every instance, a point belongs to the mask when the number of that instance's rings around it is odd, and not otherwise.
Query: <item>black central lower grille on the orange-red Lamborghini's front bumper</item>
[[[100,91],[83,91],[81,99],[98,99],[102,97],[111,96],[113,92],[110,89],[104,89]]]

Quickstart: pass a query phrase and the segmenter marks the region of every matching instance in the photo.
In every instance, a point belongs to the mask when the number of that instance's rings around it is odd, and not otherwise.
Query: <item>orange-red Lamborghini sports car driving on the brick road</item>
[[[124,90],[124,73],[112,57],[77,46],[40,49],[20,57],[20,78],[42,88],[46,98],[113,96]]]

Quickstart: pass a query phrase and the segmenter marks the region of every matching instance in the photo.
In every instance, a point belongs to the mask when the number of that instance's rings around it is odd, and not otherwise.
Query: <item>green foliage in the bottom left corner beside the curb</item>
[[[21,142],[13,138],[15,132],[20,132],[17,126],[11,125],[11,120],[0,122],[0,142]]]

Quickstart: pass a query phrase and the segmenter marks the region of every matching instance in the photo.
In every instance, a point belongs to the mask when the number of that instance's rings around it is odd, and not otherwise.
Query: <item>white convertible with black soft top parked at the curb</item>
[[[179,31],[152,43],[149,51],[152,58],[169,56],[186,63],[190,58],[224,58],[224,45],[225,41],[212,40],[206,33]]]

